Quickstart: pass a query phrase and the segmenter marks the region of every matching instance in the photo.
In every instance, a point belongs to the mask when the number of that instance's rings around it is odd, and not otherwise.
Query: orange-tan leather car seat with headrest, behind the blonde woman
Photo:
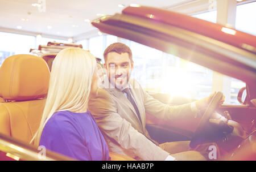
[[[35,55],[13,55],[0,68],[0,132],[30,142],[38,130],[49,84],[47,63]]]

